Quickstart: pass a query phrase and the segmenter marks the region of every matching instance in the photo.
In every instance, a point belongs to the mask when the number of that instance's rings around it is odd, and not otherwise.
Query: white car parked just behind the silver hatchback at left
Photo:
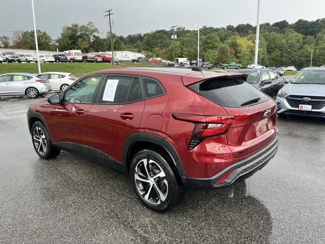
[[[65,90],[77,79],[71,73],[63,73],[63,72],[45,72],[41,74],[43,77],[48,79],[52,90]]]

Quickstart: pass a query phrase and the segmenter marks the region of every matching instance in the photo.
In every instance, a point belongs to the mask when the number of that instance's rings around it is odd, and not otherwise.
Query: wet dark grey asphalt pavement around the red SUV
[[[325,243],[325,119],[278,118],[265,168],[157,214],[128,175],[64,151],[41,160],[31,102],[0,100],[0,243]]]

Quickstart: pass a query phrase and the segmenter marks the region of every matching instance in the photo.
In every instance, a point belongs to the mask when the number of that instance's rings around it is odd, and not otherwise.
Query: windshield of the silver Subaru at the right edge
[[[293,84],[325,84],[325,70],[303,70],[299,72]]]

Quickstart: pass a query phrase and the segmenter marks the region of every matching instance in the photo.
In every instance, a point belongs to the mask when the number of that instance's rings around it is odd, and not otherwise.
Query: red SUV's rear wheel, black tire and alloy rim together
[[[139,151],[132,159],[130,175],[140,201],[156,212],[176,206],[184,195],[184,187],[166,159],[153,150]]]

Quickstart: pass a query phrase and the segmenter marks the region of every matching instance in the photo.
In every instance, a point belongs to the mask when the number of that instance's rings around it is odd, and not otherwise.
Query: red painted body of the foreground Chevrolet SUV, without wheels
[[[264,167],[276,153],[274,100],[256,89],[264,102],[226,107],[193,90],[200,82],[227,82],[246,79],[245,75],[137,68],[94,72],[78,81],[94,75],[101,76],[101,82],[91,102],[50,104],[42,100],[32,104],[27,113],[29,130],[41,121],[53,145],[98,156],[125,172],[137,150],[158,148],[171,159],[188,189],[233,184]],[[101,104],[104,82],[111,76],[148,77],[164,92],[131,103]]]

